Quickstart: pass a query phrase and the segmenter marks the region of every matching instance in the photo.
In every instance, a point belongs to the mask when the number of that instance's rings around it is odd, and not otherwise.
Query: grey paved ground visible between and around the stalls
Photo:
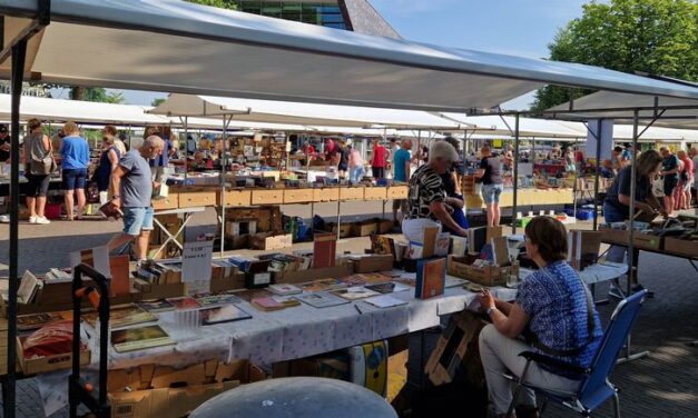
[[[386,207],[389,212],[391,207]],[[336,216],[335,203],[315,207],[315,213],[331,218]],[[309,217],[309,206],[284,208],[286,215]],[[352,202],[342,206],[343,217],[360,213],[381,213],[380,203]],[[197,215],[197,222],[213,222],[213,211]],[[109,221],[56,221],[49,226],[20,226],[20,271],[31,269],[42,272],[49,267],[68,263],[68,252],[104,245],[118,231],[120,222]],[[574,228],[588,228],[578,225]],[[7,275],[9,229],[0,225],[0,276]],[[365,241],[364,241],[365,242]],[[363,245],[343,240],[343,248]],[[612,381],[622,388],[621,409],[625,417],[698,417],[698,348],[686,342],[698,339],[698,272],[686,260],[642,252],[640,279],[656,292],[656,298],[645,305],[636,326],[632,351],[650,350],[649,357],[618,366]],[[606,287],[597,289],[606,293]],[[608,318],[612,306],[600,307]],[[18,416],[43,417],[36,384],[23,380],[18,385]],[[466,409],[464,409],[466,410]],[[67,416],[60,411],[55,417]],[[464,412],[464,417],[469,415]],[[558,408],[549,408],[551,417],[572,416]],[[598,415],[611,417],[609,407]]]

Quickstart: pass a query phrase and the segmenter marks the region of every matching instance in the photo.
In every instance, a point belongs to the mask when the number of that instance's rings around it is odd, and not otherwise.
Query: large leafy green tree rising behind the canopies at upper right
[[[550,59],[623,72],[642,71],[698,81],[698,2],[611,0],[583,6],[581,18],[562,28],[548,46]],[[547,86],[535,94],[544,110],[591,90]]]

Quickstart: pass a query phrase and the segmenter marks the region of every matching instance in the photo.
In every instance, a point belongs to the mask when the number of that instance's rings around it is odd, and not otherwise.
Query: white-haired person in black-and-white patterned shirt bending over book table
[[[436,141],[429,149],[429,162],[417,168],[410,178],[409,211],[402,221],[402,232],[411,241],[420,241],[424,228],[446,226],[459,236],[468,232],[451,217],[453,209],[441,180],[458,152],[449,142]]]

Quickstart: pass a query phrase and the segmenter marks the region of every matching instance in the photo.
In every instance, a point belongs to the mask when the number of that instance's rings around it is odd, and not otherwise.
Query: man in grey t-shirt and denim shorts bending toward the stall
[[[149,159],[163,153],[165,141],[158,136],[146,138],[139,149],[126,152],[111,172],[111,205],[124,212],[124,231],[114,236],[107,247],[112,251],[136,240],[138,260],[145,260],[153,230],[153,173]]]

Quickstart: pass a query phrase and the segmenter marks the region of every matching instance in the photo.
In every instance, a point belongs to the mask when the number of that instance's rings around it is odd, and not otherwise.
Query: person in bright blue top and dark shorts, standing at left
[[[63,191],[66,193],[66,213],[68,220],[73,218],[73,196],[78,197],[78,219],[82,219],[85,210],[85,183],[87,182],[87,167],[90,163],[90,148],[87,140],[80,137],[80,130],[75,122],[63,125],[66,138],[60,148],[63,157]]]

